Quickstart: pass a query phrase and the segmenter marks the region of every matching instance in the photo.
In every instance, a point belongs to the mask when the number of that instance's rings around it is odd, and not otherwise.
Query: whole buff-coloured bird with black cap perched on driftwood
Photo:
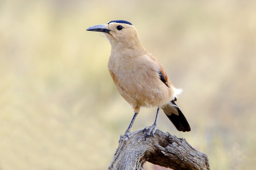
[[[142,46],[135,26],[128,21],[114,20],[91,26],[86,31],[101,32],[109,40],[109,73],[118,92],[134,112],[120,140],[124,137],[130,139],[130,129],[141,107],[157,107],[155,122],[143,130],[143,134],[146,132],[145,140],[151,133],[154,137],[160,109],[177,130],[190,131],[188,121],[175,103],[182,89],[174,87],[162,64]]]

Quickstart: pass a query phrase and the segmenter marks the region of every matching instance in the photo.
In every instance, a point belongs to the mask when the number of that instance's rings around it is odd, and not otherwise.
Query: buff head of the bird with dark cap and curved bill
[[[116,20],[109,21],[104,25],[91,26],[86,31],[102,32],[110,41],[111,45],[140,46],[140,39],[136,28],[128,21]]]

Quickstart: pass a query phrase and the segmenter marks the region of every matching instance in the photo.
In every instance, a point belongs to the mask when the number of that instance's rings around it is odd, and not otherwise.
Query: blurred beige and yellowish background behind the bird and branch
[[[0,1],[0,169],[107,169],[133,116],[86,29],[130,21],[163,64],[212,170],[256,166],[256,1]],[[131,131],[152,125],[142,108]],[[163,170],[146,163],[145,170]]]

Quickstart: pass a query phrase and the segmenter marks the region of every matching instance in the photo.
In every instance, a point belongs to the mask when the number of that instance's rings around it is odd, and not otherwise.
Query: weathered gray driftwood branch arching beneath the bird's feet
[[[108,169],[143,170],[147,161],[174,170],[209,170],[206,154],[194,149],[185,139],[156,130],[145,141],[143,130],[121,140]]]

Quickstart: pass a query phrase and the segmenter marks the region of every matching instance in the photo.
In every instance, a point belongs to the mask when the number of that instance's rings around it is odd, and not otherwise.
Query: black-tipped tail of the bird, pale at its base
[[[168,104],[163,106],[162,109],[177,130],[183,132],[190,131],[190,125],[188,121],[174,101],[170,101]]]

